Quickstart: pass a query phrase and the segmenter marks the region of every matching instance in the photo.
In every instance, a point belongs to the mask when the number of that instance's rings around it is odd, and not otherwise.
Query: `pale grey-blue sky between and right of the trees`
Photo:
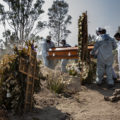
[[[0,0],[2,1],[2,0]],[[45,0],[43,9],[45,13],[41,15],[42,20],[48,19],[48,8],[54,0]],[[72,24],[68,27],[71,34],[67,38],[67,43],[74,46],[78,41],[78,19],[87,11],[88,13],[88,33],[93,35],[97,27],[104,27],[111,36],[120,26],[120,0],[65,0],[69,4],[69,15],[72,16]],[[2,30],[0,31],[0,35]],[[48,30],[44,29],[40,36],[46,37]]]

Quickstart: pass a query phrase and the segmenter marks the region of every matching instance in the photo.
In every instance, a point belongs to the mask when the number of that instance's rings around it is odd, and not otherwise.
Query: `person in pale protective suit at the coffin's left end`
[[[54,47],[55,47],[55,44],[51,41],[51,36],[47,36],[47,38],[44,39],[41,43],[43,64],[46,67],[49,67],[51,69],[54,69],[55,67],[54,62],[53,60],[48,59],[47,56],[48,56],[48,50]]]

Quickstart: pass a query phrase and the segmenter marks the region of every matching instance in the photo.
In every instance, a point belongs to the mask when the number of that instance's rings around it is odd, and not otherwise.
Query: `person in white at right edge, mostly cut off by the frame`
[[[119,66],[119,78],[120,78],[120,33],[116,33],[114,37],[118,41],[117,51],[118,51],[118,66]]]

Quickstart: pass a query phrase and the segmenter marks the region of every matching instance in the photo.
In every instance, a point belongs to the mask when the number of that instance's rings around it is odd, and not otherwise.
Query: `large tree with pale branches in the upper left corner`
[[[8,5],[8,10],[0,4],[0,21],[4,26],[3,37],[6,44],[9,40],[23,43],[28,40],[31,33],[35,36],[45,26],[40,20],[44,12],[44,0],[3,0]],[[9,25],[9,30],[6,28]],[[9,41],[10,42],[10,41]]]

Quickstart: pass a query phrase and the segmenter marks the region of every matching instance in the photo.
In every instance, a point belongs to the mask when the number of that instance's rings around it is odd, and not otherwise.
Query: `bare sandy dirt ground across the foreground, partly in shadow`
[[[120,88],[120,83],[115,88]],[[81,86],[81,91],[72,95],[57,95],[46,88],[35,94],[36,105],[32,113],[13,116],[10,120],[120,120],[120,101],[107,102],[113,89],[94,84]]]

